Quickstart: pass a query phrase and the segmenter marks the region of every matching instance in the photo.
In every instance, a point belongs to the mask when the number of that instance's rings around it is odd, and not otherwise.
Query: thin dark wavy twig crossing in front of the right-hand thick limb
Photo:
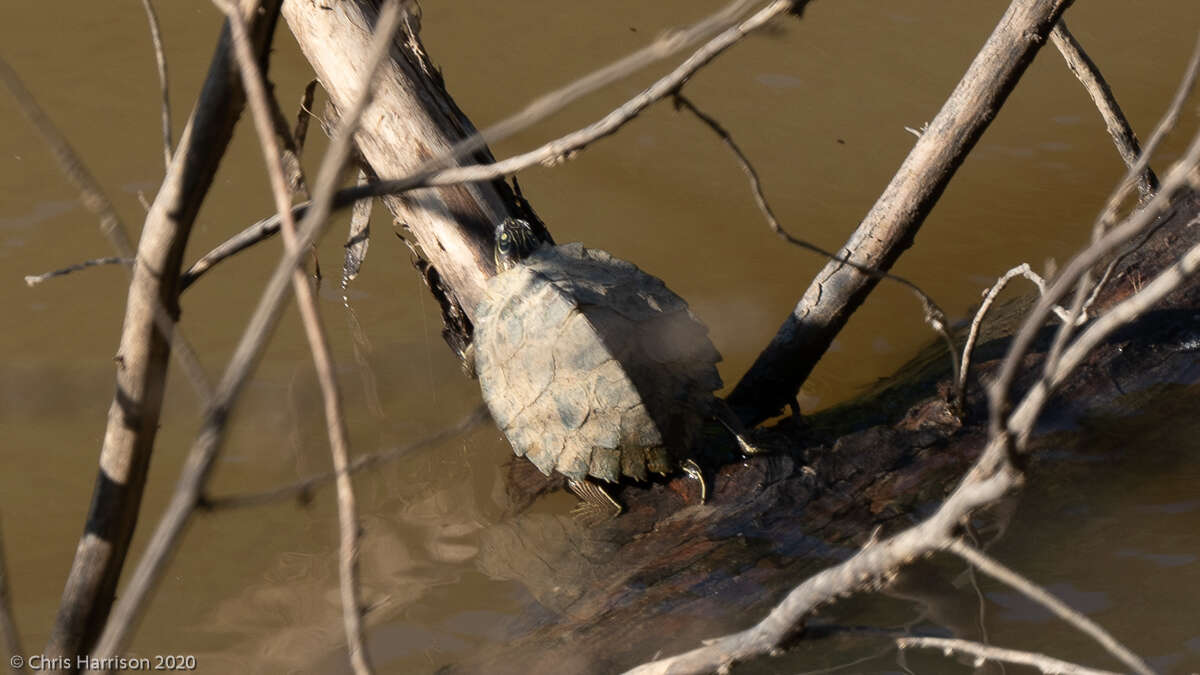
[[[674,101],[677,108],[678,107],[686,108],[691,114],[696,115],[696,118],[700,121],[704,123],[704,125],[707,125],[710,130],[713,130],[713,133],[720,137],[721,142],[725,143],[725,147],[728,148],[731,153],[733,153],[733,156],[737,157],[738,160],[738,165],[742,166],[742,172],[745,173],[746,178],[750,180],[750,191],[754,192],[755,203],[758,205],[758,210],[762,211],[763,217],[767,219],[767,225],[770,227],[772,232],[778,234],[784,241],[787,241],[788,244],[799,246],[802,249],[806,249],[820,256],[824,256],[830,261],[847,264],[857,269],[858,271],[862,271],[863,274],[874,276],[875,279],[887,279],[889,281],[895,281],[896,283],[900,283],[901,286],[905,286],[910,291],[912,291],[913,294],[917,295],[917,299],[920,301],[922,309],[924,310],[925,324],[932,328],[946,342],[946,347],[950,354],[953,380],[954,381],[960,380],[959,352],[958,348],[954,346],[954,340],[950,339],[949,331],[946,329],[946,312],[942,311],[942,307],[938,306],[936,301],[934,301],[934,298],[930,297],[929,293],[925,293],[919,286],[917,286],[912,281],[908,281],[907,279],[900,275],[892,274],[881,270],[878,268],[852,261],[850,259],[848,256],[839,256],[836,253],[822,249],[821,246],[817,246],[816,244],[793,237],[790,232],[787,232],[784,228],[782,225],[780,225],[779,219],[775,217],[775,211],[774,209],[770,208],[770,204],[767,202],[767,195],[763,192],[762,180],[758,178],[758,172],[754,168],[754,165],[750,163],[750,159],[746,157],[745,153],[742,151],[742,148],[738,147],[738,144],[733,141],[733,136],[730,135],[728,130],[726,130],[721,125],[721,123],[716,121],[716,119],[703,113],[700,108],[696,107],[695,103],[691,102],[690,98],[684,96],[682,92],[676,91]]]

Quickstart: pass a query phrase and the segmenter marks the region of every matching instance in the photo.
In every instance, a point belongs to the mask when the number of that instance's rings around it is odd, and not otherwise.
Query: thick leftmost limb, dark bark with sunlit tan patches
[[[278,0],[242,5],[254,26],[258,58],[265,59]],[[46,647],[50,656],[91,651],[112,608],[137,525],[170,352],[156,330],[156,309],[161,305],[170,316],[179,315],[178,281],[187,237],[242,106],[228,44],[226,26],[196,110],[142,229],[118,352],[116,395],[84,534]]]

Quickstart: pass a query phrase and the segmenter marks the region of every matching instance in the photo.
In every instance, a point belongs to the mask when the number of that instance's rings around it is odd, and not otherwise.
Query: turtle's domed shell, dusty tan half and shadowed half
[[[674,471],[721,387],[720,358],[662,281],[581,244],[542,246],[492,277],[476,312],[484,400],[547,474]]]

